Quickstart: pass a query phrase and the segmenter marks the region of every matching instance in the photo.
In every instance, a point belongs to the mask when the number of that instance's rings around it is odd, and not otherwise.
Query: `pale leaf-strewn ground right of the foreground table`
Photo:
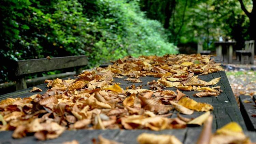
[[[225,64],[224,68],[237,101],[239,95],[256,95],[255,65]]]

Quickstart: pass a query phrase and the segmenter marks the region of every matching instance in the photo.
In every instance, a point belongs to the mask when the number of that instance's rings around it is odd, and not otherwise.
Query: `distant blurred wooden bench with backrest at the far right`
[[[254,64],[254,40],[245,41],[244,44],[244,50],[236,51],[237,60],[244,64],[244,60],[247,59],[249,63]]]

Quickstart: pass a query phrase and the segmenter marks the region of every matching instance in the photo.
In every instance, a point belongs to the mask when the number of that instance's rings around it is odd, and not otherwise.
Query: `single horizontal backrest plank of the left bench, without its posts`
[[[26,75],[31,73],[38,73],[44,71],[72,68],[86,66],[88,61],[87,57],[82,56],[67,56],[67,57],[56,57],[56,58],[42,58],[42,59],[31,59],[31,60],[20,60],[16,61],[17,69],[15,76]]]

